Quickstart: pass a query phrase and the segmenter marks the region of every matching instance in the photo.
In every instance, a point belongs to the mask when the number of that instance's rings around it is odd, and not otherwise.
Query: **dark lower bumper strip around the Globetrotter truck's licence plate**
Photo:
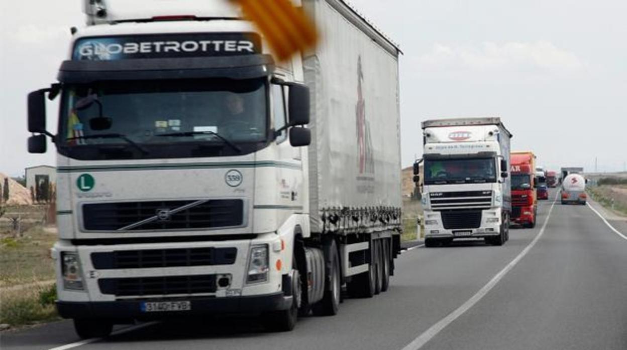
[[[162,319],[176,316],[206,314],[258,314],[266,311],[286,310],[292,305],[292,297],[283,292],[261,296],[182,298],[191,302],[190,311],[142,312],[144,301],[71,302],[57,301],[61,317],[66,319]],[[150,302],[159,301],[150,299]],[[168,301],[171,301],[168,300]]]

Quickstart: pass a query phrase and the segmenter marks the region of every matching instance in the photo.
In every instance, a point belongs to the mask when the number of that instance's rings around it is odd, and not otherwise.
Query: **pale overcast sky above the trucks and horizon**
[[[403,165],[419,122],[501,116],[515,150],[549,168],[627,162],[627,1],[353,0],[401,45]],[[26,152],[26,94],[55,81],[79,0],[0,1],[0,172],[55,163]],[[48,129],[56,130],[49,106]]]

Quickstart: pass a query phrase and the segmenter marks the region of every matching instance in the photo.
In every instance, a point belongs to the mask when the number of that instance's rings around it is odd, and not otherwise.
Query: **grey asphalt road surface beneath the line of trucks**
[[[388,292],[346,299],[337,316],[306,317],[292,332],[266,332],[258,319],[197,319],[66,346],[78,338],[61,321],[4,333],[0,347],[627,349],[627,239],[589,207],[551,207],[541,202],[539,225],[512,230],[503,247],[466,241],[404,252]],[[613,219],[627,235],[627,222]]]

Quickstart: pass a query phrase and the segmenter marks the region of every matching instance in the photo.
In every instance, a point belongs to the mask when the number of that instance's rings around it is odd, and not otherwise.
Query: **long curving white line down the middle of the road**
[[[540,232],[535,236],[534,240],[532,240],[531,243],[527,245],[527,247],[525,247],[525,249],[523,249],[522,252],[520,252],[520,254],[518,254],[514,258],[514,260],[512,260],[509,264],[507,264],[507,266],[505,266],[502,270],[500,270],[498,274],[492,277],[490,282],[488,282],[485,286],[483,286],[482,289],[480,289],[477,292],[477,294],[472,296],[465,303],[461,304],[461,306],[455,309],[455,311],[451,312],[446,317],[438,321],[436,324],[429,327],[429,329],[424,331],[423,334],[420,334],[416,339],[414,339],[414,341],[410,342],[409,344],[407,344],[407,346],[403,347],[403,350],[420,349],[421,347],[424,346],[424,344],[426,344],[428,341],[433,339],[433,337],[438,335],[438,333],[440,333],[443,329],[445,329],[446,326],[451,324],[451,322],[458,319],[458,317],[463,315],[471,307],[475,306],[477,302],[483,299],[483,297],[485,297],[486,294],[488,294],[488,292],[490,292],[492,288],[494,288],[494,286],[497,285],[498,281],[500,281],[507,274],[507,272],[513,269],[514,266],[518,264],[518,262],[525,255],[527,255],[527,253],[529,253],[529,250],[531,250],[534,247],[534,245],[538,242],[540,237],[542,237],[542,235],[544,234],[544,230],[546,229],[547,224],[549,223],[549,218],[551,217],[551,212],[553,211],[553,207],[555,207],[556,202],[557,202],[557,196],[555,200],[553,201],[553,203],[551,204],[551,208],[549,209],[549,214],[547,215],[547,218],[544,220],[544,224],[542,224],[542,229],[540,229]]]

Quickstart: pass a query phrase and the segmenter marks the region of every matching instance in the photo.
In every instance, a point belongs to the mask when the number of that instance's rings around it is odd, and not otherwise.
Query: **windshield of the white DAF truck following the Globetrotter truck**
[[[493,158],[438,159],[424,161],[424,183],[496,182]]]

